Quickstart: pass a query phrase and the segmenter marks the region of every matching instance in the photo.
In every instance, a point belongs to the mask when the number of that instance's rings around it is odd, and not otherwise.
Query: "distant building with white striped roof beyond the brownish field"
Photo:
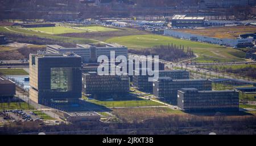
[[[203,27],[204,17],[174,15],[172,17],[172,27]]]

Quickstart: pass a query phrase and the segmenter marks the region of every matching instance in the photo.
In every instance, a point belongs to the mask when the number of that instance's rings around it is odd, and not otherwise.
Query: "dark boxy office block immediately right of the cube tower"
[[[82,74],[82,91],[93,98],[123,97],[130,90],[128,75]]]

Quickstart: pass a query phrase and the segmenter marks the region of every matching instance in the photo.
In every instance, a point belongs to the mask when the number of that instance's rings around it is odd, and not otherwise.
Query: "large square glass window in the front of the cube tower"
[[[51,68],[51,90],[57,92],[72,91],[72,68]]]

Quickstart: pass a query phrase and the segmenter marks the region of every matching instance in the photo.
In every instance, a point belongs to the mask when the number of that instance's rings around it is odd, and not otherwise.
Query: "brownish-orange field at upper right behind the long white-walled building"
[[[237,38],[241,34],[254,33],[254,26],[210,27],[203,29],[176,29],[176,31],[193,33],[217,38]]]

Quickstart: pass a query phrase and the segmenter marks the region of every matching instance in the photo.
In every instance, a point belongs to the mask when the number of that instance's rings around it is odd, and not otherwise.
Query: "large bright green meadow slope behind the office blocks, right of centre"
[[[160,36],[160,35],[134,35],[134,36],[122,36],[112,37],[106,40],[106,42],[117,42],[128,46],[131,49],[143,49],[150,48],[156,45],[168,45],[173,44],[176,46],[184,45],[185,50],[187,47],[199,55],[195,61],[200,62],[232,62],[232,61],[244,61],[245,53],[241,50],[226,48],[225,46],[207,44],[203,42],[195,42],[182,40],[179,38]]]

